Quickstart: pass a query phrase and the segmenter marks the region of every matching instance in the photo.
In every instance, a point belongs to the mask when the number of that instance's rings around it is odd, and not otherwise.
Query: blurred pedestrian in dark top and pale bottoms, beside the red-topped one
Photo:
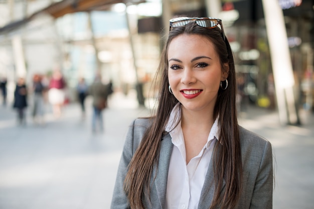
[[[40,74],[34,74],[33,76],[33,109],[32,116],[34,123],[44,124],[44,93],[45,86],[42,82],[42,76]]]

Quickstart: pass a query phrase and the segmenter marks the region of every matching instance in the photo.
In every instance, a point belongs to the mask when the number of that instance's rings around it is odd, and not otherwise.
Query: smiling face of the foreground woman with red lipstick
[[[228,76],[214,44],[202,35],[179,35],[169,45],[168,62],[169,84],[183,107],[213,111],[220,81]]]

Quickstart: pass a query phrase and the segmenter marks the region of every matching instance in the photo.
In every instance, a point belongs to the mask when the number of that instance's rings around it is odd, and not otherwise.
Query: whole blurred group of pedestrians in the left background
[[[7,82],[5,76],[0,78],[4,106],[8,105]],[[85,100],[90,95],[93,97],[92,131],[102,131],[102,110],[107,107],[108,95],[113,92],[112,82],[104,84],[101,74],[97,73],[94,81],[89,85],[85,82],[84,77],[80,77],[74,91],[69,91],[68,88],[67,81],[60,69],[55,69],[50,76],[34,73],[29,83],[25,77],[18,77],[12,102],[12,108],[17,112],[17,124],[25,126],[29,115],[34,124],[45,125],[45,115],[48,111],[52,111],[55,118],[61,117],[63,107],[70,102],[70,98],[74,98],[71,102],[77,102],[80,105],[81,117],[85,119]],[[71,92],[75,95],[69,95]],[[30,114],[27,114],[27,111]]]

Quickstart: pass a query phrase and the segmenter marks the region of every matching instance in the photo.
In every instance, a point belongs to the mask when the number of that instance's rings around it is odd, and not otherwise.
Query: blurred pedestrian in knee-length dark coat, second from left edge
[[[18,112],[18,123],[20,125],[26,124],[25,108],[28,106],[27,103],[27,86],[25,84],[25,79],[20,77],[18,79],[15,91],[14,91],[14,102],[13,107],[17,109]]]

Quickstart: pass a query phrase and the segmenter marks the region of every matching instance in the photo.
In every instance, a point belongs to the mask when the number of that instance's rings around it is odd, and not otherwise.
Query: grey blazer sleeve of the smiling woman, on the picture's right
[[[253,189],[250,209],[272,208],[273,191],[273,165],[272,148],[269,141],[266,141],[259,170],[256,176]]]

